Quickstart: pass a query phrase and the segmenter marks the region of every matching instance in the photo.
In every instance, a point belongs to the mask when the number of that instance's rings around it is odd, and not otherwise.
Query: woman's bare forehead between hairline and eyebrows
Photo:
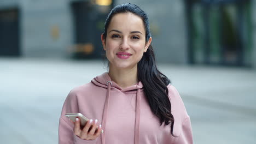
[[[117,29],[121,32],[140,31],[145,33],[144,23],[141,17],[132,13],[120,13],[112,17],[108,31]]]

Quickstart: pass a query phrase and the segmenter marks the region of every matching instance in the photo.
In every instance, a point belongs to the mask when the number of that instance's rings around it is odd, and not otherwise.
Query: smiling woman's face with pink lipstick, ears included
[[[103,48],[110,68],[131,69],[137,67],[152,38],[146,43],[146,32],[141,17],[132,13],[120,13],[112,17],[103,39]]]

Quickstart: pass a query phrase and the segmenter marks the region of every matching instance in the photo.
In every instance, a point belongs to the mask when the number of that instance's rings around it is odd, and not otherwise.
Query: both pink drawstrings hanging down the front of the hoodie
[[[101,142],[102,144],[105,144],[105,139],[106,139],[106,121],[107,121],[107,114],[108,114],[108,104],[109,104],[109,96],[110,96],[110,89],[112,86],[112,82],[108,81],[107,82],[107,97],[105,100],[104,104],[104,110],[103,110],[103,116],[102,116],[102,129],[104,130],[104,133],[101,135]],[[135,118],[135,144],[139,144],[139,118],[140,118],[140,105],[141,105],[141,90],[138,88],[137,89],[137,94],[136,94],[136,118]]]

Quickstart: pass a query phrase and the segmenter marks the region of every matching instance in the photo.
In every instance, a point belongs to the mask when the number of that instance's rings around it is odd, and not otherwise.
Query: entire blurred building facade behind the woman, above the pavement
[[[158,62],[256,68],[247,0],[1,0],[0,56],[100,58],[104,20],[127,2],[147,12]]]

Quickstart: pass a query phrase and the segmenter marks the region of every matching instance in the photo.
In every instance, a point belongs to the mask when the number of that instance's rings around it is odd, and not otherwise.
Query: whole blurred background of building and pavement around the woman
[[[149,16],[160,70],[184,100],[194,143],[255,143],[254,0],[1,0],[0,140],[57,143],[68,92],[107,71],[110,9]]]

